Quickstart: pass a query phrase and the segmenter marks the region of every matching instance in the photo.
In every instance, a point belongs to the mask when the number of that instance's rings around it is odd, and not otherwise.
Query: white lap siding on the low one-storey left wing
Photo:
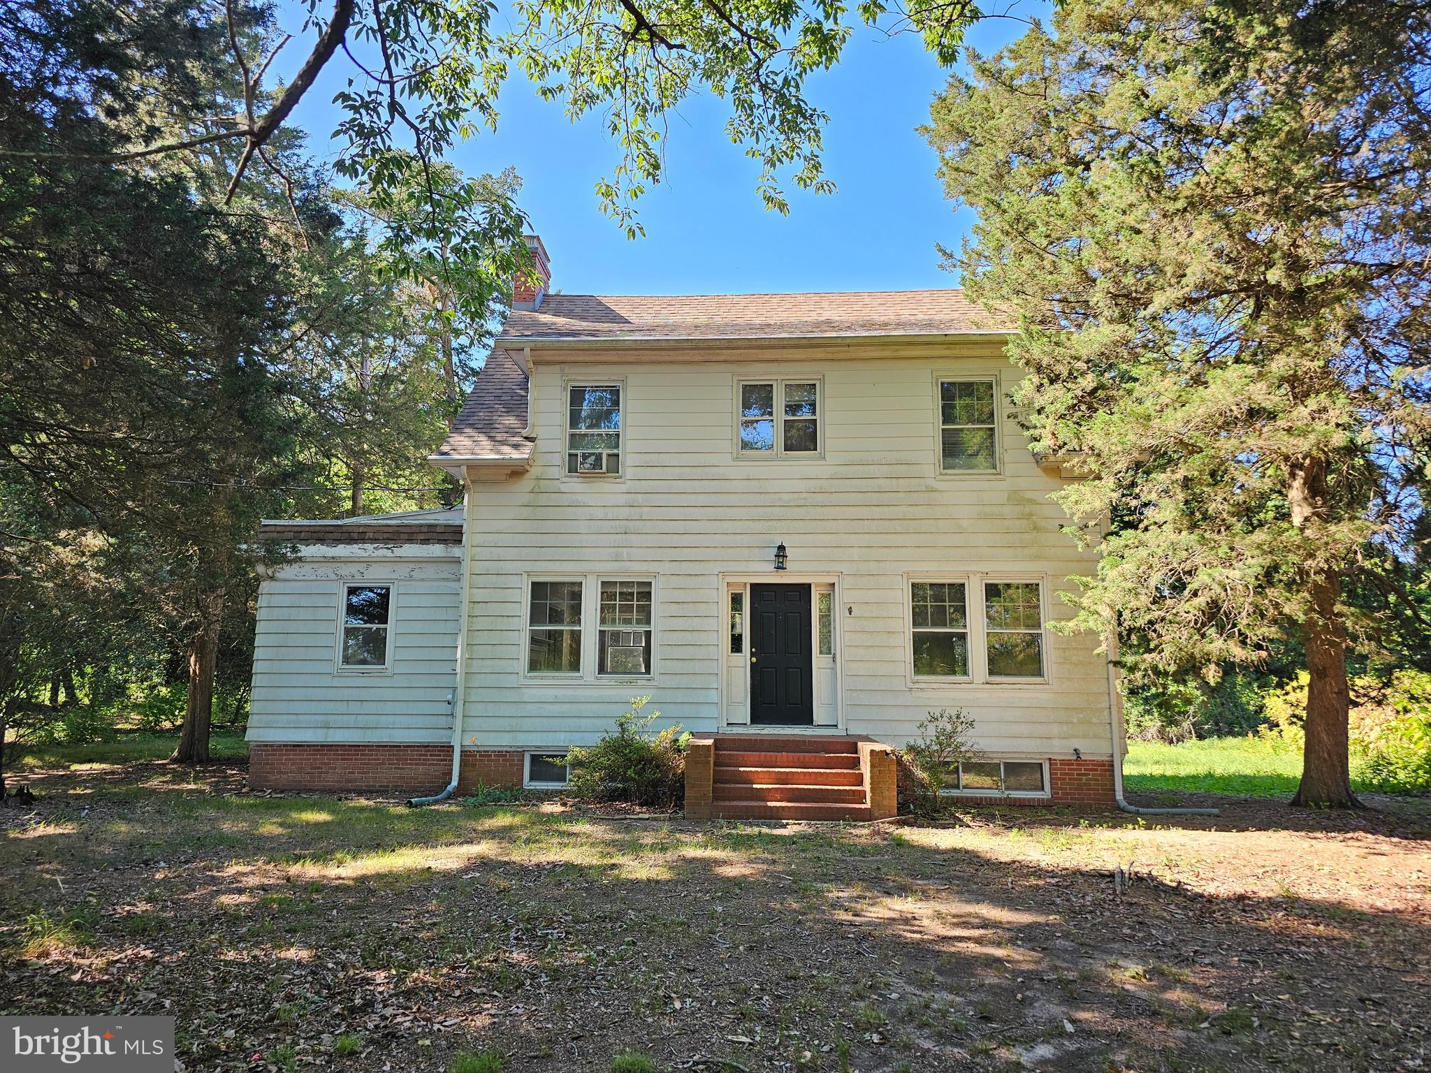
[[[339,585],[362,579],[396,588],[391,674],[333,668]],[[459,581],[455,561],[278,568],[259,591],[249,741],[449,748]]]

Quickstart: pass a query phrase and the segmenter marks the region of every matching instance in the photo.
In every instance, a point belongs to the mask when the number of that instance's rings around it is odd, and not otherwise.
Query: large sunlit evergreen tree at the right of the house
[[[1112,519],[1075,625],[1136,638],[1133,675],[1298,638],[1298,804],[1355,801],[1347,579],[1424,551],[1428,57],[1392,0],[1068,0],[926,132],[1035,448],[1089,472],[1058,498]]]

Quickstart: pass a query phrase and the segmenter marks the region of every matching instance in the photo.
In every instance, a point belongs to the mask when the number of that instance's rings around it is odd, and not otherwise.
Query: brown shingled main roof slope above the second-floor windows
[[[797,295],[548,295],[514,309],[517,339],[780,339],[1009,332],[963,290],[853,290]]]

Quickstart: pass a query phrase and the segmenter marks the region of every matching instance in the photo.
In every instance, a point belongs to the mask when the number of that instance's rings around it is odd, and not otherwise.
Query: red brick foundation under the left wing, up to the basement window
[[[521,785],[522,753],[464,750],[458,793],[484,785]],[[451,745],[275,744],[249,747],[255,790],[435,794],[452,777]]]

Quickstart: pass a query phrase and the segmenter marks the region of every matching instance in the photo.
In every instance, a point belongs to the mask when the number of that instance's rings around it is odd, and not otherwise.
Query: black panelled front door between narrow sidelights
[[[810,587],[751,585],[750,721],[814,725]]]

